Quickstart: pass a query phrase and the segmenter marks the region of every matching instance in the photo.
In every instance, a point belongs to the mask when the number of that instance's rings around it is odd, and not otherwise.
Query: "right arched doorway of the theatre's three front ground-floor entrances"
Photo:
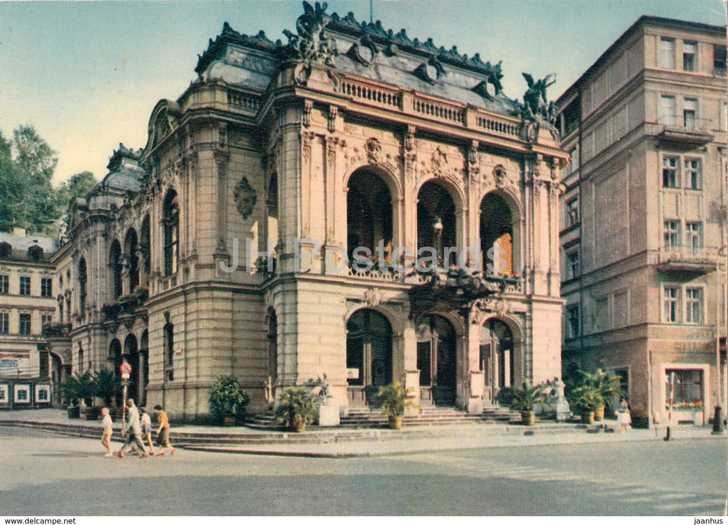
[[[513,332],[498,319],[489,319],[480,328],[480,369],[491,401],[503,399],[515,383]],[[505,391],[504,391],[505,390]]]

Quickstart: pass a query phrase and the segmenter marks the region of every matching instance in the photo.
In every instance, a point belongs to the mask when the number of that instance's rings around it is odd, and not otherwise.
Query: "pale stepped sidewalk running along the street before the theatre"
[[[69,420],[60,409],[19,410],[0,412],[0,425],[36,428],[68,436],[98,438],[100,421]],[[236,454],[266,454],[305,457],[366,457],[391,454],[416,454],[468,449],[488,449],[505,446],[534,446],[547,444],[589,444],[614,441],[662,441],[665,427],[631,429],[619,432],[616,421],[606,421],[605,432],[597,425],[587,428],[574,423],[540,423],[534,427],[505,423],[477,425],[442,425],[427,428],[349,429],[308,427],[304,433],[258,430],[247,427],[204,427],[173,425],[170,433],[175,446],[205,452]],[[120,441],[121,424],[114,424],[114,437]],[[678,425],[670,429],[672,440],[724,439],[712,436],[708,425]],[[657,436],[656,436],[657,434]],[[669,446],[669,443],[665,443]]]

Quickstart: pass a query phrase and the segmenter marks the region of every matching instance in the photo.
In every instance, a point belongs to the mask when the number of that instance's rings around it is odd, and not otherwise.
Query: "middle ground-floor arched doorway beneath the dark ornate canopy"
[[[435,405],[454,405],[457,387],[456,337],[453,325],[440,316],[420,318],[417,334],[417,368],[421,396],[427,391]]]

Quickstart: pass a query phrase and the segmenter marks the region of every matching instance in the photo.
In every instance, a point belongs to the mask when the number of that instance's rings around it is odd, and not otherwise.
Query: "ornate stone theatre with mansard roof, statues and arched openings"
[[[481,412],[560,377],[548,77],[516,102],[497,60],[304,4],[288,44],[223,25],[71,203],[64,364],[129,361],[185,420],[227,374],[254,411],[327,374],[342,414],[395,380]]]

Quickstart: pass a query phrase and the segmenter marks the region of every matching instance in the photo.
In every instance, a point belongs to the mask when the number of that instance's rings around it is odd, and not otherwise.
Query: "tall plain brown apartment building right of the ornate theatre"
[[[643,424],[725,406],[727,104],[726,28],[647,16],[557,101],[563,366]]]

